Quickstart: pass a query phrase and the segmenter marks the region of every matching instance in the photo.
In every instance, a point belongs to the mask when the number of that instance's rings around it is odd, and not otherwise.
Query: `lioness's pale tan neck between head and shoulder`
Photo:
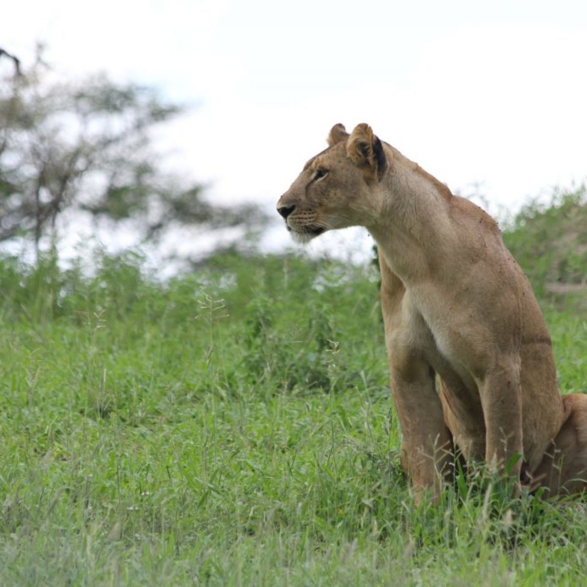
[[[369,231],[390,269],[406,284],[438,271],[439,252],[454,244],[448,188],[394,153],[393,170],[380,194],[380,214]],[[448,254],[450,257],[450,254]]]

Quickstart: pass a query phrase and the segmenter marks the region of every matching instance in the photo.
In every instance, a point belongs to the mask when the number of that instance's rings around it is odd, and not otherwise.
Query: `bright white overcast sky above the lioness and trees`
[[[161,146],[212,201],[273,207],[337,122],[492,212],[587,177],[582,0],[4,3],[0,46],[26,64],[38,40],[66,75],[192,104]]]

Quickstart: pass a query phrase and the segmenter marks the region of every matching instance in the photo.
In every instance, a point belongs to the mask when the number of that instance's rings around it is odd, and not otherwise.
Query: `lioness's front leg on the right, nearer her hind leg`
[[[485,460],[498,474],[514,475],[519,480],[522,465],[522,390],[519,361],[498,360],[480,384],[485,420]],[[515,463],[512,457],[520,456]],[[510,465],[511,468],[506,468]]]

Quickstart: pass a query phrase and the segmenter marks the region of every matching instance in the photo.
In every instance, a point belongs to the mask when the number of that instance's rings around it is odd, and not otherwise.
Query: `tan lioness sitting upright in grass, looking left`
[[[497,224],[367,124],[350,135],[336,124],[328,144],[277,210],[299,241],[361,225],[377,242],[402,465],[416,500],[438,496],[456,448],[515,475],[517,490],[582,491],[587,396],[559,394],[544,317]]]

